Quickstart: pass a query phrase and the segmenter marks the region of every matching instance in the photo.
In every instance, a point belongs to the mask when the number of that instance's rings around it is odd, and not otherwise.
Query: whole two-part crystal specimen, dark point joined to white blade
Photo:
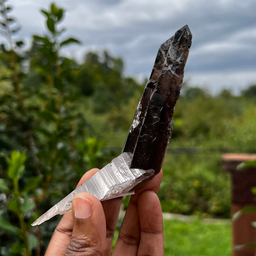
[[[33,226],[71,211],[77,193],[91,193],[99,200],[132,194],[135,187],[160,172],[172,135],[172,116],[191,39],[186,25],[160,46],[123,153],[39,217]]]

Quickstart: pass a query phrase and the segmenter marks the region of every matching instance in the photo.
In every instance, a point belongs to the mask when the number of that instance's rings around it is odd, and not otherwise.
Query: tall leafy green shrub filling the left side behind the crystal
[[[0,52],[1,255],[38,255],[56,225],[30,224],[73,190],[84,172],[105,164],[104,142],[90,138],[81,111],[76,73],[82,68],[59,53],[60,47],[79,43],[72,37],[60,40],[64,11],[54,4],[42,11],[48,33],[34,35],[31,49],[21,54],[22,41],[12,42],[10,9],[0,3],[7,41]]]

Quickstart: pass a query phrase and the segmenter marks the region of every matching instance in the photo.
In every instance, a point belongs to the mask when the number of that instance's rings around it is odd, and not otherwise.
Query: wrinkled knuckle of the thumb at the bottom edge
[[[64,256],[102,256],[97,241],[88,240],[86,237],[71,237]]]

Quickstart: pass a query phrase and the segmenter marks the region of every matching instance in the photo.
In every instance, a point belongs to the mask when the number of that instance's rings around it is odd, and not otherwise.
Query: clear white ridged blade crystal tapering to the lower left
[[[154,170],[130,169],[130,164],[131,157],[126,152],[122,153],[90,179],[86,180],[80,187],[63,198],[58,204],[55,204],[31,225],[40,225],[57,214],[71,211],[74,196],[81,192],[91,193],[100,201],[133,194],[132,188],[142,180],[153,176]]]

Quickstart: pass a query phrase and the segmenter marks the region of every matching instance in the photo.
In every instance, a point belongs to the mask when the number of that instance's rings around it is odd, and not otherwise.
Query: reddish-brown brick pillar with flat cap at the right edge
[[[244,168],[236,170],[238,164],[244,161],[252,161],[256,155],[224,154],[222,155],[222,168],[231,174],[231,216],[241,210],[245,205],[256,206],[255,195],[251,189],[256,187],[256,168]],[[238,244],[256,243],[256,228],[251,222],[256,221],[256,213],[246,213],[232,222],[232,255],[255,256],[255,248],[243,247],[235,250]]]

